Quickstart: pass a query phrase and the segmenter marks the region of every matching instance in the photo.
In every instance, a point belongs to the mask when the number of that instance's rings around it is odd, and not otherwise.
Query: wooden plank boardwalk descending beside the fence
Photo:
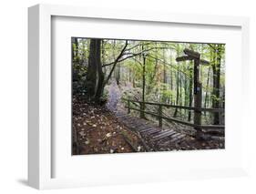
[[[148,151],[155,148],[179,144],[188,138],[188,135],[176,131],[174,128],[159,128],[158,124],[139,117],[132,117],[127,113],[115,113],[118,122],[130,130],[136,131],[145,140]]]

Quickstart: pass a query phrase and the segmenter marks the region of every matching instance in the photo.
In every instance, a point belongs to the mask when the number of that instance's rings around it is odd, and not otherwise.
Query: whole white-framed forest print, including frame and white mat
[[[244,17],[30,7],[29,185],[246,174],[248,26]]]

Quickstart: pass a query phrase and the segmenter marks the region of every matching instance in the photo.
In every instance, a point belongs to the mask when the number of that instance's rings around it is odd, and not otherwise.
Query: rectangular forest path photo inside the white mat
[[[225,148],[225,44],[70,41],[73,155]]]

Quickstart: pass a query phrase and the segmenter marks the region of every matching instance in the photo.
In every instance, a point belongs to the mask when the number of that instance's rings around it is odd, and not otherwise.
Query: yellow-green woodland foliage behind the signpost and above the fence
[[[78,44],[73,44],[72,58],[73,77],[77,77],[80,86],[84,86],[87,77],[87,64],[89,57],[88,38],[78,38]],[[103,66],[113,64],[120,54],[125,40],[104,39],[102,41],[101,61]],[[225,89],[225,45],[217,44],[193,44],[129,40],[128,46],[118,62],[118,67],[112,79],[120,81],[119,88],[123,89],[123,97],[141,98],[143,77],[145,77],[145,99],[163,103],[175,103],[188,105],[189,94],[193,87],[193,61],[177,62],[177,56],[183,56],[183,50],[189,48],[199,52],[201,58],[210,61],[210,66],[200,66],[200,82],[202,83],[203,101],[223,101]],[[220,57],[220,66],[217,64]],[[126,59],[127,58],[127,59]],[[143,75],[143,63],[145,60],[145,75]],[[113,65],[103,67],[105,77],[108,77]],[[213,68],[220,69],[220,97],[216,97],[213,88]],[[192,86],[189,86],[190,82]],[[86,92],[86,88],[81,89]],[[192,94],[193,95],[193,94]],[[103,98],[108,97],[105,89]]]

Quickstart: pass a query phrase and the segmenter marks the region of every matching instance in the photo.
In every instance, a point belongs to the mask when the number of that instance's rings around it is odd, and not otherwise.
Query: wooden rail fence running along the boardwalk
[[[222,125],[201,125],[200,123],[190,123],[188,121],[184,121],[184,120],[179,120],[175,117],[164,117],[163,116],[163,111],[162,111],[162,107],[174,107],[174,108],[179,108],[179,109],[188,109],[191,111],[197,111],[197,112],[214,112],[214,113],[223,113],[224,109],[222,108],[205,108],[205,107],[187,107],[187,106],[177,106],[177,105],[169,105],[169,104],[162,104],[162,103],[155,103],[155,102],[143,102],[143,101],[139,101],[139,100],[131,100],[131,99],[127,99],[127,98],[123,98],[123,100],[127,101],[127,106],[126,108],[128,108],[128,114],[130,113],[130,110],[136,110],[140,113],[140,117],[143,117],[145,114],[151,115],[153,117],[158,117],[159,118],[159,127],[162,127],[162,120],[165,119],[167,121],[171,121],[171,122],[176,122],[182,125],[186,125],[189,127],[193,127],[196,129],[224,129],[225,126]],[[138,103],[139,108],[136,107],[131,107],[131,103],[132,104],[136,104]],[[159,111],[156,112],[150,112],[145,110],[146,105],[152,105],[152,106],[158,106],[159,107]]]

